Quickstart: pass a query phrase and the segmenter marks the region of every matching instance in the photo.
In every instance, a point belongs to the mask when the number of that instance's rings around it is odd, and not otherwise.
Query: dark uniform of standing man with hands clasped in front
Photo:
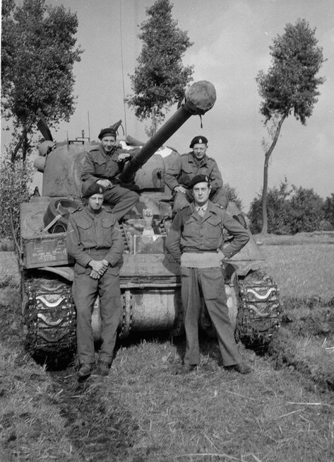
[[[119,224],[109,207],[91,212],[88,207],[73,212],[68,221],[67,250],[76,260],[73,299],[76,304],[78,359],[80,364],[95,363],[92,313],[100,296],[102,318],[100,361],[112,363],[121,315],[119,260],[124,250]],[[107,260],[109,266],[100,279],[90,277],[90,260]]]

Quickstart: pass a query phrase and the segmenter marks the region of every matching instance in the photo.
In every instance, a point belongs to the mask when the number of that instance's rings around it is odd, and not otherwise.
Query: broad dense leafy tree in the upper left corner
[[[40,117],[52,127],[73,114],[73,64],[82,52],[75,47],[78,18],[44,0],[20,6],[3,0],[1,25],[1,116],[13,123],[24,161]]]

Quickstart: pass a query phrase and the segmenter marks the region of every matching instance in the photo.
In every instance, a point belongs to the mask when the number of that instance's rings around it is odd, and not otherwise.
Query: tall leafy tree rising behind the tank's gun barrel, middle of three
[[[151,120],[149,135],[156,132],[170,106],[184,97],[184,87],[192,80],[193,67],[184,67],[181,58],[193,44],[177,27],[172,7],[169,0],[156,0],[146,9],[148,20],[141,23],[138,35],[143,48],[130,76],[134,94],[126,98],[136,117]]]

